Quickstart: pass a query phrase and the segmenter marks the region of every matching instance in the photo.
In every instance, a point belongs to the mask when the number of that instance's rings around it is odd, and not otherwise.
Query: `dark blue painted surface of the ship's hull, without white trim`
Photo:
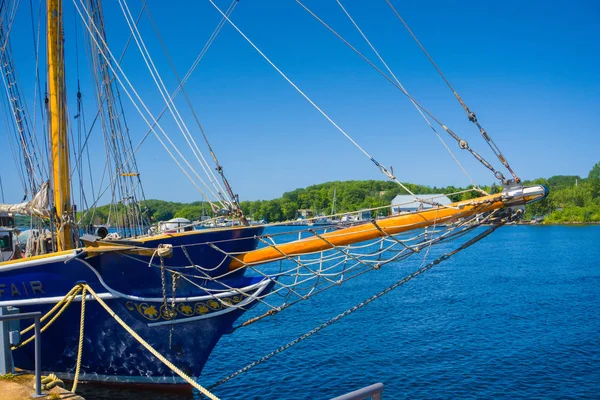
[[[156,247],[160,243],[173,244],[173,257],[165,259],[165,267],[180,268],[189,265],[187,256],[181,250],[186,246],[188,256],[198,265],[212,268],[222,263],[225,255],[211,248],[208,243],[215,243],[224,251],[248,251],[256,247],[256,235],[262,228],[237,228],[216,231],[198,231],[190,236],[175,236],[166,239],[152,240],[144,243],[146,247]],[[234,239],[227,241],[227,238]],[[84,255],[78,258],[84,259]],[[120,254],[103,254],[85,260],[100,273],[111,289],[128,295],[162,297],[160,268],[148,267],[150,257],[127,257]],[[155,258],[155,264],[159,259]],[[223,266],[210,274],[221,274],[227,268]],[[189,272],[189,270],[188,270]],[[166,273],[167,295],[171,295],[171,274]],[[244,270],[229,276],[224,284],[228,287],[242,288],[258,283],[261,279],[244,277]],[[98,293],[106,293],[96,274],[77,259],[68,262],[55,262],[29,268],[5,271],[0,274],[0,283],[6,285],[2,300],[27,299],[33,293],[21,290],[12,296],[11,283],[40,281],[43,284],[42,297],[64,296],[78,282],[87,282]],[[203,285],[205,280],[195,282]],[[272,284],[271,284],[272,285]],[[213,285],[218,289],[223,286]],[[270,287],[268,288],[270,290]],[[266,290],[264,293],[267,293]],[[177,296],[203,296],[206,291],[180,279],[177,285]],[[39,293],[38,293],[39,295]],[[34,296],[37,297],[37,296]],[[140,336],[153,345],[161,354],[175,362],[182,370],[192,376],[200,375],[202,368],[221,336],[230,331],[233,322],[247,309],[214,316],[207,319],[182,324],[148,327],[145,320],[136,310],[128,309],[127,300],[108,301],[109,306]],[[160,305],[160,304],[159,304]],[[193,306],[193,303],[191,303]],[[24,312],[47,312],[53,304],[41,306],[21,306]],[[73,372],[77,356],[79,338],[79,303],[72,303],[70,308],[46,331],[43,336],[42,369],[55,373]],[[179,318],[179,317],[178,317]],[[171,346],[169,338],[171,337]],[[29,345],[14,351],[15,365],[22,369],[33,369],[33,346]],[[135,339],[120,327],[113,318],[96,302],[88,302],[86,307],[84,371],[102,375],[121,376],[173,376],[161,362],[145,351]]]

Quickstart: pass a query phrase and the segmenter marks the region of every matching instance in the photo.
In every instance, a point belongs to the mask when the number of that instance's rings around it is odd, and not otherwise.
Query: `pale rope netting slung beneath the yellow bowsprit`
[[[396,205],[394,205],[396,206]],[[393,207],[393,206],[388,206]],[[428,208],[442,210],[443,207]],[[377,211],[371,209],[369,211]],[[414,211],[419,215],[422,211]],[[182,284],[191,285],[203,290],[223,308],[242,308],[260,304],[263,308],[255,312],[255,316],[241,323],[236,328],[256,322],[266,316],[274,315],[301,301],[340,286],[347,281],[357,278],[373,270],[379,270],[388,264],[399,264],[412,259],[414,266],[424,265],[441,254],[460,247],[461,244],[472,240],[479,233],[478,227],[482,225],[498,225],[510,220],[513,214],[510,209],[503,208],[491,212],[474,212],[471,215],[457,217],[451,220],[435,219],[427,227],[409,229],[403,233],[388,234],[382,229],[378,219],[356,221],[353,224],[363,226],[363,231],[375,234],[378,238],[357,242],[348,245],[335,245],[333,239],[350,235],[347,229],[340,224],[324,226],[269,226],[265,233],[256,236],[259,249],[271,248],[279,252],[278,260],[261,263],[244,263],[241,260],[243,253],[226,251],[231,241],[243,239],[229,239],[221,242],[203,242],[178,247],[187,256],[189,264],[186,266],[168,266],[161,257],[150,261],[150,266],[161,269],[163,286],[173,285],[173,298],[175,288]],[[247,239],[246,239],[247,240]],[[287,254],[282,248],[284,244],[302,244],[307,240],[322,242],[321,251],[308,254]],[[222,254],[221,262],[210,266],[198,264],[198,260],[190,257],[190,248],[193,246],[207,246]],[[127,255],[139,262],[142,259]],[[194,262],[196,261],[196,262]],[[236,261],[241,266],[232,268],[230,263]],[[223,268],[229,266],[229,268]],[[240,269],[245,269],[246,277],[254,281],[269,282],[271,290],[257,290],[257,285],[247,287],[239,286]],[[225,271],[217,273],[217,271]],[[170,275],[165,278],[166,275]],[[167,282],[165,282],[167,280]],[[224,293],[235,293],[238,301],[232,304]],[[164,294],[167,299],[168,294]],[[262,312],[262,314],[260,314]],[[260,315],[258,315],[260,314]]]

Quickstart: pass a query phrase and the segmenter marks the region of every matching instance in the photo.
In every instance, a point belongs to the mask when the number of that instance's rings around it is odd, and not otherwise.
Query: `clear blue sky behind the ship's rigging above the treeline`
[[[104,7],[109,43],[120,53],[128,30],[115,3],[104,2]],[[137,15],[141,2],[129,3]],[[229,3],[219,0],[217,4],[225,9]],[[599,2],[393,3],[521,177],[586,176],[600,161]],[[183,75],[220,15],[207,1],[163,4],[150,1],[149,7]],[[306,0],[305,4],[375,60],[335,1]],[[346,0],[343,4],[407,90],[499,166],[385,1]],[[65,16],[69,99],[74,100],[75,18],[68,1]],[[28,5],[21,4],[18,18],[24,22],[15,25],[11,34],[13,51],[17,66],[24,71],[20,73],[24,90],[32,95]],[[392,165],[400,180],[432,186],[469,184],[408,100],[294,1],[241,0],[232,20],[367,151],[381,163]],[[172,90],[175,80],[146,17],[140,28]],[[79,57],[91,119],[95,103],[83,47]],[[129,49],[123,66],[158,113],[164,103],[153,90],[135,47]],[[242,200],[271,199],[326,181],[384,179],[229,25],[186,88]],[[182,100],[177,104],[191,127],[193,120]],[[146,129],[131,107],[127,108],[132,140],[137,143]],[[165,127],[181,144],[173,124],[165,122]],[[96,136],[94,153],[102,148],[100,133]],[[494,182],[489,171],[455,143],[447,142],[478,183]],[[4,191],[7,201],[19,201],[23,192],[10,176],[14,167],[9,154],[7,146],[0,146],[0,156],[6,161],[1,169]],[[96,157],[101,169],[102,158]],[[147,198],[200,199],[156,139],[143,145],[138,162]]]

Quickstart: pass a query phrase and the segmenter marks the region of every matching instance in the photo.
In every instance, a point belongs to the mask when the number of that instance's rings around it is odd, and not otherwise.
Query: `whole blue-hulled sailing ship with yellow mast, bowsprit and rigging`
[[[142,38],[136,31],[135,18],[126,7],[127,3],[119,3],[124,8],[140,52],[147,55]],[[145,116],[149,129],[156,132],[159,129],[158,120],[140,110],[141,103],[135,97],[132,86],[124,79],[117,57],[109,52],[100,3],[88,0],[85,4],[74,2],[74,5],[87,29],[88,41],[94,50],[96,73],[101,77],[98,85],[99,103],[111,104],[109,98],[114,93],[110,94],[109,88],[113,87],[111,85],[120,85],[139,107],[140,114]],[[223,23],[230,24],[242,33],[229,18],[233,8],[223,12],[214,6],[221,13]],[[136,232],[130,237],[117,238],[83,235],[76,223],[77,212],[71,198],[73,167],[70,165],[72,149],[69,144],[72,140],[67,129],[70,122],[65,94],[62,1],[48,0],[45,14],[50,184],[33,184],[32,192],[35,193],[32,193],[32,200],[19,206],[0,205],[0,212],[33,215],[48,221],[50,229],[43,237],[40,236],[40,240],[32,241],[34,251],[26,251],[21,258],[0,260],[0,306],[16,307],[22,312],[41,311],[44,314],[60,309],[60,317],[47,322],[42,355],[42,369],[60,377],[73,377],[78,363],[80,352],[77,344],[82,326],[77,304],[82,302],[82,295],[76,288],[81,283],[89,285],[114,314],[161,354],[188,375],[197,377],[222,335],[439,243],[468,238],[466,243],[470,245],[475,239],[484,237],[481,233],[476,235],[476,229],[482,224],[497,227],[517,218],[525,204],[547,194],[544,187],[523,187],[516,175],[512,180],[505,179],[493,170],[504,185],[501,193],[484,193],[480,197],[450,205],[431,204],[432,207],[423,211],[376,221],[361,221],[336,231],[308,228],[293,235],[275,235],[268,231],[269,227],[247,224],[237,197],[224,180],[225,192],[229,193],[229,197],[221,204],[226,208],[226,214],[242,222],[239,226],[177,229],[173,233]],[[152,70],[150,60],[145,60]],[[6,69],[4,74],[8,77]],[[158,77],[156,71],[152,76]],[[307,98],[303,92],[301,94]],[[315,105],[312,100],[307,100]],[[179,122],[172,101],[166,98],[165,102]],[[322,110],[318,111],[325,115]],[[116,130],[109,126],[112,116],[107,119],[109,131]],[[447,127],[444,129],[449,130]],[[454,136],[458,137],[456,134]],[[471,151],[462,139],[458,138],[457,142],[460,148]],[[27,162],[32,159],[29,157],[32,151],[31,148],[24,150]],[[133,151],[126,148],[123,152],[127,160],[117,168],[115,181],[119,177],[135,180],[139,176],[132,171],[134,168],[128,158]],[[212,149],[210,153],[213,154]],[[478,154],[474,155],[482,159]],[[368,157],[387,178],[412,195],[397,180],[393,171],[370,155]],[[75,164],[79,165],[79,160]],[[508,166],[507,163],[503,164]],[[221,173],[222,168],[219,164],[217,166],[217,171]],[[224,179],[224,175],[222,177]],[[417,201],[427,202],[413,196]],[[139,208],[136,202],[128,204]],[[218,208],[214,211],[220,212]],[[132,221],[135,222],[132,230],[136,231],[141,219],[132,217]],[[136,339],[123,330],[93,297],[86,299],[89,301],[85,310],[82,350],[85,366],[81,379],[144,384],[182,382],[176,373],[158,362],[152,354],[142,351]],[[277,300],[283,303],[278,304]],[[253,318],[234,325],[255,306],[266,311],[259,315],[255,313]],[[33,343],[16,344],[13,356],[15,366],[24,370],[33,369]]]

